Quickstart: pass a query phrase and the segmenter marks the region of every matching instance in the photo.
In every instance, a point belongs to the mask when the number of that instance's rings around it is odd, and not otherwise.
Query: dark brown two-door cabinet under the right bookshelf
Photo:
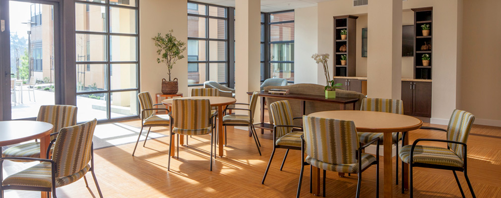
[[[404,114],[431,117],[431,82],[402,81]]]

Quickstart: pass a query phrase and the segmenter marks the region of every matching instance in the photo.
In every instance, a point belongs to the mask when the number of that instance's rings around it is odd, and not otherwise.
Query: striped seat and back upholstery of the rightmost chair
[[[447,140],[466,143],[474,119],[475,116],[470,112],[455,109],[447,126]],[[413,162],[462,167],[464,146],[456,143],[447,143],[447,146],[449,149],[438,146],[416,145]],[[399,153],[400,158],[406,163],[410,162],[411,148],[412,145],[405,145]]]

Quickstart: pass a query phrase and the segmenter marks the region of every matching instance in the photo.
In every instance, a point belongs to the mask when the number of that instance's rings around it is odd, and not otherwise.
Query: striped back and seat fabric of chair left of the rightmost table
[[[292,108],[288,100],[279,100],[270,104],[273,123],[276,125],[294,125]],[[292,132],[293,127],[277,127],[274,131],[277,145],[301,147],[302,131]]]

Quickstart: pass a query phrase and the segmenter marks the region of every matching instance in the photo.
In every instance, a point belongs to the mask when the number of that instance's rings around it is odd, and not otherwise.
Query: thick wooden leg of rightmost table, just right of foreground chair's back
[[[392,160],[392,136],[391,132],[385,132],[383,136],[383,146],[384,146],[384,171],[383,171],[383,191],[385,198],[393,196],[392,184],[393,184],[393,160]]]

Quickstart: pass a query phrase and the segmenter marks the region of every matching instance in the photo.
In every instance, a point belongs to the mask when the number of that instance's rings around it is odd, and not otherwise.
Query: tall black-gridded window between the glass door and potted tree
[[[78,121],[136,116],[138,2],[76,0],[75,25]]]

